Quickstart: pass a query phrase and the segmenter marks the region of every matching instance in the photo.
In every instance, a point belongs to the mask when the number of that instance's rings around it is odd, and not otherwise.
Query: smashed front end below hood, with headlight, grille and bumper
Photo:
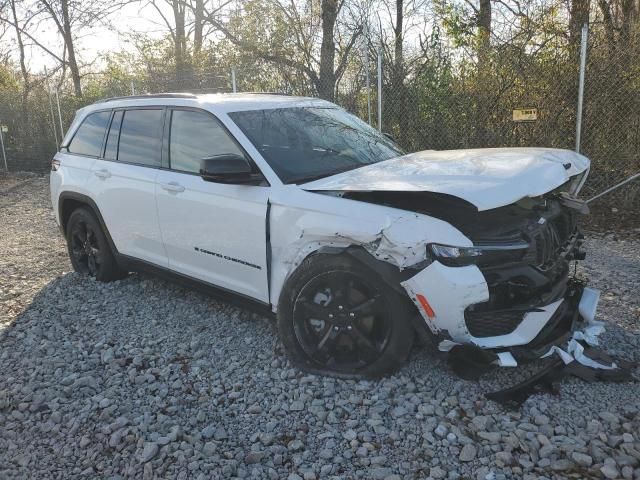
[[[572,274],[585,258],[577,219],[586,207],[561,189],[485,211],[425,192],[346,196],[445,220],[473,242],[428,245],[428,265],[402,282],[441,350],[473,345],[516,366],[594,321],[598,292]]]

